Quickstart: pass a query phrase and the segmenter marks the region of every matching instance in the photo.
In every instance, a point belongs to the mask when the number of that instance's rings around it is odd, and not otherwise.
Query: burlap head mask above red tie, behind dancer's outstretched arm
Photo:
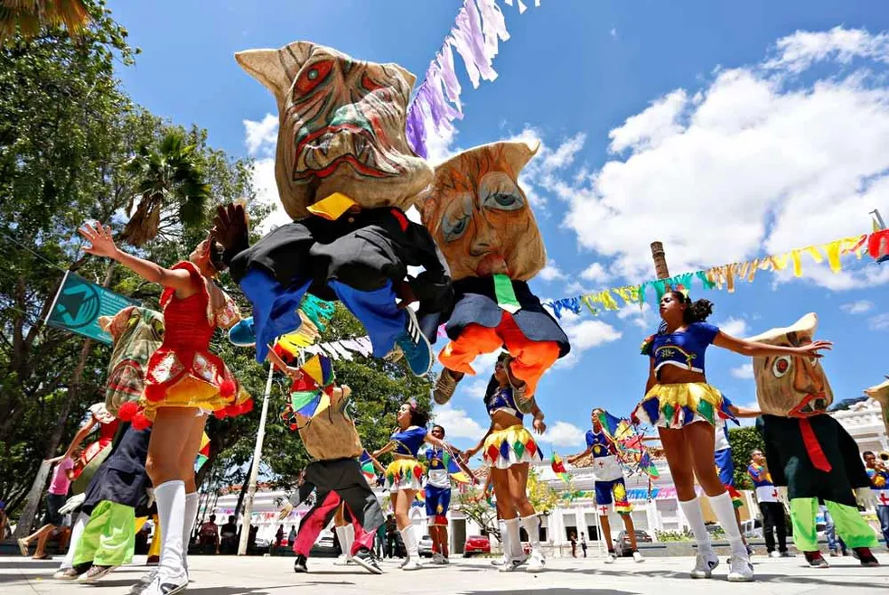
[[[781,347],[812,342],[818,316],[806,314],[787,329],[767,330],[752,341]],[[764,414],[810,417],[823,414],[833,403],[833,390],[817,358],[768,356],[753,358],[756,398]]]

